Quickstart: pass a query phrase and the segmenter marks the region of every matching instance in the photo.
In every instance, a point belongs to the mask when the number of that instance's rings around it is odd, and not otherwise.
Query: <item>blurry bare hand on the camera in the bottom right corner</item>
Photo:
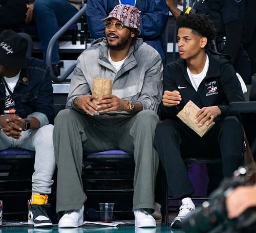
[[[241,186],[227,196],[226,209],[228,218],[239,217],[247,208],[256,206],[256,186]]]

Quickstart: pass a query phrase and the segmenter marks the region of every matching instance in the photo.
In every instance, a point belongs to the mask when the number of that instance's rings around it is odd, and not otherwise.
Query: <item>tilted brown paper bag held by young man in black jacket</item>
[[[200,108],[189,100],[184,108],[177,114],[177,117],[202,137],[212,126],[214,126],[215,122],[212,122],[208,126],[205,124],[203,126],[196,124],[195,116],[199,110]]]

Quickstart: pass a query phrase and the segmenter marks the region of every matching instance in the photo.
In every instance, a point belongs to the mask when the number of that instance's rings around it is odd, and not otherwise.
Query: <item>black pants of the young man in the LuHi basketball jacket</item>
[[[154,146],[164,167],[168,189],[174,198],[194,193],[184,157],[222,158],[222,173],[231,176],[242,164],[243,129],[236,117],[216,122],[203,137],[181,121],[164,120],[156,128]]]

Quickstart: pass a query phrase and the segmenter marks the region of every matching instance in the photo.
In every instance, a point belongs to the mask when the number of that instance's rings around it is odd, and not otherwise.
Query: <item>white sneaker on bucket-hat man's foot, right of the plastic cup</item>
[[[156,220],[144,209],[135,209],[135,227],[156,227]]]

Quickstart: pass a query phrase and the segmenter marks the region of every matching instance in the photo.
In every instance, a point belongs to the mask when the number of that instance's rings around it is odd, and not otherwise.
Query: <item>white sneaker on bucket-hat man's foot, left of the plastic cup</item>
[[[83,210],[84,207],[82,205],[81,209],[72,209],[70,211],[65,211],[64,215],[59,220],[59,228],[81,226],[83,224]]]

